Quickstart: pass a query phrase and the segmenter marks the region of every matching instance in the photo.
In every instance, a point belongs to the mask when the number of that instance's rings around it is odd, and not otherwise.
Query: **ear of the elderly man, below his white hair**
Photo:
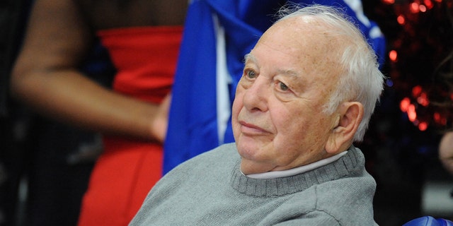
[[[326,152],[336,155],[352,145],[355,132],[363,117],[360,102],[344,102],[338,107],[338,118],[326,143]]]

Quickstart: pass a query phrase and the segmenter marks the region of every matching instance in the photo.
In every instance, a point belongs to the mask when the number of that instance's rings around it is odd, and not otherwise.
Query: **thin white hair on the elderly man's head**
[[[310,17],[321,23],[323,32],[342,42],[336,49],[341,53],[338,62],[341,66],[336,90],[324,106],[323,113],[333,114],[345,101],[357,101],[364,106],[363,119],[354,136],[354,141],[362,141],[369,119],[379,97],[384,90],[384,75],[379,71],[374,50],[369,46],[362,32],[344,13],[331,6],[313,5],[297,8],[292,5],[279,11],[280,20],[294,17]]]

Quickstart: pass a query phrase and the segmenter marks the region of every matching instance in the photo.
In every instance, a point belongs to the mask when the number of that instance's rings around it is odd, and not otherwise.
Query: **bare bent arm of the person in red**
[[[13,97],[84,129],[162,141],[166,109],[113,93],[77,70],[92,39],[72,0],[35,1],[11,76]]]

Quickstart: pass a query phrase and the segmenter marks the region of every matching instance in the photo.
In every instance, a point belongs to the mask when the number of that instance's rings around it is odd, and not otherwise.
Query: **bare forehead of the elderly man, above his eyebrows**
[[[338,75],[341,44],[324,27],[313,16],[280,20],[246,55],[246,63],[265,66],[261,64],[272,62],[273,73],[332,79]]]

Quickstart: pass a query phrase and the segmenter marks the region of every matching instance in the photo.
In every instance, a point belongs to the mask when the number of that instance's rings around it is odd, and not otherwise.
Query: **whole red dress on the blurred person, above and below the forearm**
[[[170,92],[183,28],[120,28],[98,32],[117,69],[113,89],[160,103]],[[79,225],[127,225],[161,178],[159,143],[104,136],[104,152],[91,174]]]

